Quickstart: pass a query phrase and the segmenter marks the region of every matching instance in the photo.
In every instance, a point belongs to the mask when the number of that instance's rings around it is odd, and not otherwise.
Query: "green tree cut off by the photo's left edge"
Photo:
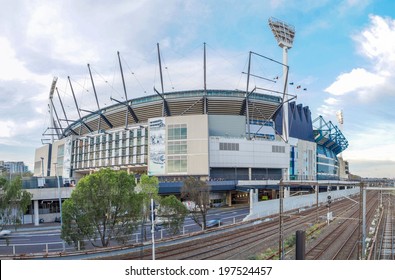
[[[0,178],[0,229],[5,225],[17,228],[31,204],[32,194],[22,190],[21,176],[12,180]]]

